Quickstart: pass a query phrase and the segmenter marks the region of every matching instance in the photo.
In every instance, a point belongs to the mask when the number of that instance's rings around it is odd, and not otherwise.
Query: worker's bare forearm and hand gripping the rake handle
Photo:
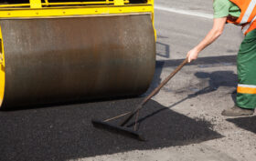
[[[212,29],[208,32],[208,35],[197,46],[187,52],[188,62],[196,60],[200,51],[213,43],[222,34],[226,21],[227,17],[214,18]]]

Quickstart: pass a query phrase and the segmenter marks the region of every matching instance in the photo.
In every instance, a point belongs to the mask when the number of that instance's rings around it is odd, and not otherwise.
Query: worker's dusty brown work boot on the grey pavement
[[[239,106],[233,106],[229,109],[222,111],[222,116],[251,116],[254,113],[254,109],[240,108]]]

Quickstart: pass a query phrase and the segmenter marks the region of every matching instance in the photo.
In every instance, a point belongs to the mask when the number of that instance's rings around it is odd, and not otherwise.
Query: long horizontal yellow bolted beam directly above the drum
[[[52,16],[71,16],[71,15],[111,15],[111,14],[133,14],[133,13],[152,13],[153,5],[123,5],[123,6],[77,6],[77,7],[50,7],[48,9],[12,9],[0,10],[0,18],[33,18],[33,17],[52,17]]]

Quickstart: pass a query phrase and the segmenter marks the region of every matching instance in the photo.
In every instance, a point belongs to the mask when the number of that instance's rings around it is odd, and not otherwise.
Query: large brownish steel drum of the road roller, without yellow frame
[[[0,20],[2,107],[143,94],[155,72],[150,15]]]

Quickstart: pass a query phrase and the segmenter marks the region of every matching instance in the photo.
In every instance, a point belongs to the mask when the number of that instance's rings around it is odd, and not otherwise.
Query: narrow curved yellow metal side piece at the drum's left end
[[[5,55],[4,55],[4,42],[0,26],[0,106],[4,100],[5,94]]]

